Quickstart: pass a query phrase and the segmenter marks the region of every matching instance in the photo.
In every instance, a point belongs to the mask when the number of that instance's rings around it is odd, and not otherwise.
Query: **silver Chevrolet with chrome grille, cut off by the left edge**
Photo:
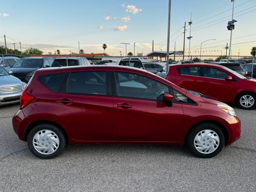
[[[20,102],[20,95],[26,87],[26,83],[10,75],[0,66],[0,106]]]

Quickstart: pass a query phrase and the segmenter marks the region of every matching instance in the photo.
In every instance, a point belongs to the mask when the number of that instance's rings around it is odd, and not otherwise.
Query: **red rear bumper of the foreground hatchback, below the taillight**
[[[20,140],[25,141],[24,133],[26,127],[28,126],[29,122],[24,116],[23,112],[19,110],[13,117],[12,117],[12,127],[14,132],[18,135]]]

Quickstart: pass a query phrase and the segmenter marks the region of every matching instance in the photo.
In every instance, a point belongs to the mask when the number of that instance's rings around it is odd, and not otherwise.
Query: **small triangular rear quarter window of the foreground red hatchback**
[[[37,79],[45,87],[57,93],[60,89],[60,85],[62,83],[64,76],[65,76],[65,73],[57,73],[57,74],[39,76]]]

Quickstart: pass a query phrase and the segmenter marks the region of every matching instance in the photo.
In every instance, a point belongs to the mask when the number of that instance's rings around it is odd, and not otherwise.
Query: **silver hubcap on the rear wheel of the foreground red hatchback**
[[[41,130],[33,137],[33,146],[37,152],[49,155],[54,153],[60,144],[60,140],[55,132],[50,130]]]

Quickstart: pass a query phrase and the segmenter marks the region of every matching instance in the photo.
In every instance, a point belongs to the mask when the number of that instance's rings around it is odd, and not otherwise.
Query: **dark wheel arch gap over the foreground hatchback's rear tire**
[[[38,120],[38,121],[34,121],[34,122],[30,123],[26,127],[25,132],[24,132],[24,140],[25,141],[27,141],[28,134],[33,129],[33,127],[35,127],[36,125],[39,125],[39,124],[51,124],[51,125],[54,125],[54,126],[58,127],[61,130],[61,132],[64,134],[64,137],[66,139],[66,145],[69,145],[69,140],[68,140],[67,132],[59,124],[57,124],[55,122],[52,122],[52,121],[49,121],[49,120]]]

